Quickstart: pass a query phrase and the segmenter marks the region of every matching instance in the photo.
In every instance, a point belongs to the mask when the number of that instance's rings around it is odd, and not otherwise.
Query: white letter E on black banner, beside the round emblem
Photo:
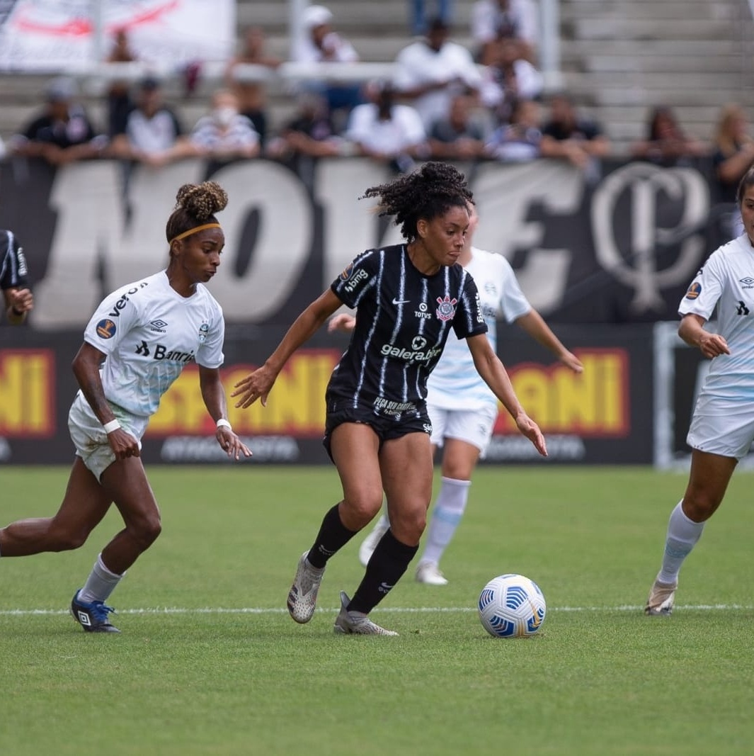
[[[561,302],[573,253],[568,248],[544,249],[542,222],[527,222],[533,202],[556,215],[572,215],[582,200],[579,169],[557,160],[524,165],[483,163],[474,184],[479,230],[474,246],[511,259],[516,249],[528,249],[526,262],[516,270],[521,290],[533,308],[545,314]]]

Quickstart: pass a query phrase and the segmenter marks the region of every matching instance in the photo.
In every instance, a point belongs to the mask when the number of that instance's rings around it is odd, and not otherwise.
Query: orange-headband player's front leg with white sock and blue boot
[[[159,507],[140,457],[116,460],[102,472],[100,483],[123,518],[125,528],[107,544],[71,602],[73,616],[90,632],[117,632],[110,624],[113,611],[105,602],[125,571],[159,536]]]

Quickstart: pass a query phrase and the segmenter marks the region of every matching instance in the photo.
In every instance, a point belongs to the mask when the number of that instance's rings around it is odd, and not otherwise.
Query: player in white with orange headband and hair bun
[[[227,421],[220,380],[224,321],[205,289],[218,265],[224,235],[215,212],[227,194],[213,181],[184,184],[165,234],[168,267],[110,294],[94,312],[73,360],[80,391],[68,417],[76,460],[53,517],[24,519],[0,529],[0,556],[76,549],[115,503],[125,522],[97,556],[71,602],[88,632],[118,632],[105,604],[126,569],[160,532],[159,509],[140,458],[141,436],[159,399],[187,364],[199,383],[216,438],[228,457],[251,452]]]

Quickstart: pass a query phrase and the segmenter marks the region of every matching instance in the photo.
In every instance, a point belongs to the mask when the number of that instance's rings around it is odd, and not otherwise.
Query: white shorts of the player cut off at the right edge
[[[693,449],[737,460],[754,440],[754,411],[731,411],[731,402],[703,396],[697,401],[686,443]]]

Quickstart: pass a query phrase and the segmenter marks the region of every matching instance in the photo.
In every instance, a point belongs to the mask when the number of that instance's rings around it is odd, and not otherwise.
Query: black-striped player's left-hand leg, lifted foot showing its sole
[[[328,559],[369,523],[382,505],[379,438],[365,423],[341,423],[329,432],[329,453],[343,487],[343,499],[325,514],[314,544],[298,560],[288,594],[288,611],[308,622]]]

